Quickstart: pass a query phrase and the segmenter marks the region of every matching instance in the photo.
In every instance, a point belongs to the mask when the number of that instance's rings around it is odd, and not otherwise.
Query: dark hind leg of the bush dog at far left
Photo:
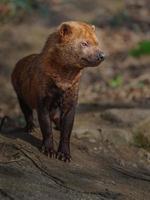
[[[25,103],[25,101],[18,96],[18,101],[20,104],[20,108],[24,114],[25,120],[26,120],[26,126],[25,126],[25,131],[28,133],[32,132],[34,128],[34,123],[33,123],[33,111],[32,109]]]

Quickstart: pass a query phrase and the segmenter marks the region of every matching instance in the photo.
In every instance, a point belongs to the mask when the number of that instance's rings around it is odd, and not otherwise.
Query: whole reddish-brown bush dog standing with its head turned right
[[[70,135],[74,122],[82,69],[104,60],[95,27],[82,22],[62,23],[50,34],[41,53],[21,59],[12,73],[12,84],[26,120],[34,126],[36,109],[43,135],[42,150],[50,157],[70,161]],[[61,132],[57,152],[53,148],[52,122]]]

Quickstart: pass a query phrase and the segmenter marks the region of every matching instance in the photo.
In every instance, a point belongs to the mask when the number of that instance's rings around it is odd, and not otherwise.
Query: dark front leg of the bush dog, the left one
[[[38,120],[43,136],[42,151],[50,157],[54,157],[53,148],[53,134],[52,134],[52,122],[49,116],[49,109],[46,103],[39,103],[38,105]]]

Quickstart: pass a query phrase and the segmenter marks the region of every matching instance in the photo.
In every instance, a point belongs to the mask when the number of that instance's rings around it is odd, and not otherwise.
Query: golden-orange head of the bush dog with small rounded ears
[[[58,30],[55,46],[58,60],[66,66],[78,68],[98,66],[104,60],[95,27],[82,22],[62,23]]]

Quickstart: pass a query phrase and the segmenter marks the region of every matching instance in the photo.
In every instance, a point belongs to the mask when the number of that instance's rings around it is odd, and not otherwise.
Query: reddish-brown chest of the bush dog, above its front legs
[[[67,107],[77,99],[81,72],[70,76],[54,76],[47,80],[43,99],[49,106]]]

